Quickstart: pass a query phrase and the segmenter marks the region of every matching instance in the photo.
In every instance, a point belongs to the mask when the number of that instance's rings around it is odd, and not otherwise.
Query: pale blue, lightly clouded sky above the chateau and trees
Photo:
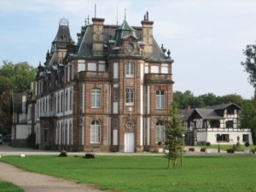
[[[253,0],[1,0],[0,61],[28,61],[37,67],[59,20],[69,20],[77,39],[85,17],[94,16],[95,3],[96,16],[105,18],[105,24],[120,24],[126,9],[128,23],[141,26],[148,10],[154,38],[171,50],[175,61],[174,90],[191,90],[195,96],[253,96],[241,66],[242,49],[256,40]]]

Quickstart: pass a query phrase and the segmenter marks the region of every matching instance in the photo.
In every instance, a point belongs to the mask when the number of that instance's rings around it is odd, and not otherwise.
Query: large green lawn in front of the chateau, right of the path
[[[256,156],[186,156],[177,169],[166,169],[162,156],[4,156],[1,161],[116,191],[256,192]]]

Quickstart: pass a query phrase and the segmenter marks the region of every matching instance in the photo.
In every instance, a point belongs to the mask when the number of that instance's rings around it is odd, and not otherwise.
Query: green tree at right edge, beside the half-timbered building
[[[241,106],[241,128],[250,128],[256,144],[256,101],[244,101]]]

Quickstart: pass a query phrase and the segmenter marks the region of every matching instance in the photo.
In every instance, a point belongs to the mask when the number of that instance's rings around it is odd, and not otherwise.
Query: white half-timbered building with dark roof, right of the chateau
[[[253,143],[250,129],[240,127],[240,112],[241,108],[232,102],[184,110],[185,144]]]

